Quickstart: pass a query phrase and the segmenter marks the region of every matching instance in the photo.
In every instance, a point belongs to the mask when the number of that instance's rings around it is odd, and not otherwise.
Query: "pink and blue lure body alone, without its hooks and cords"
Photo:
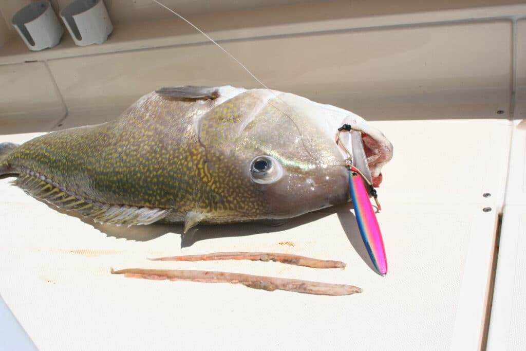
[[[363,179],[354,166],[351,166],[349,169],[349,187],[363,243],[378,273],[386,275],[387,257],[380,226],[369,200],[365,184],[363,184]]]

